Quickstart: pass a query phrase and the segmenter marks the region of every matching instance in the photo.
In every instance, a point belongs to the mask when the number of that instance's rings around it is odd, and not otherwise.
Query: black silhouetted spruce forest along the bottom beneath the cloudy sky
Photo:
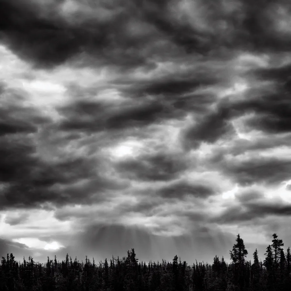
[[[47,257],[44,265],[29,256],[28,261],[16,262],[11,253],[2,257],[0,290],[33,291],[257,291],[290,290],[290,248],[284,253],[282,239],[273,234],[272,244],[266,248],[265,260],[259,262],[258,251],[253,252],[253,262],[247,261],[248,251],[243,239],[237,235],[230,251],[232,262],[227,264],[215,255],[212,264],[197,262],[188,265],[175,255],[172,262],[139,262],[134,249],[127,257],[105,259],[98,265],[87,256],[85,263],[77,258],[65,261]]]

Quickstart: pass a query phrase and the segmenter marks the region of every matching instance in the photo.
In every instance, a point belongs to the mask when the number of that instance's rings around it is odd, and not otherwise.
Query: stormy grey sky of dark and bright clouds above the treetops
[[[2,0],[0,256],[286,251],[290,24],[288,0]]]

